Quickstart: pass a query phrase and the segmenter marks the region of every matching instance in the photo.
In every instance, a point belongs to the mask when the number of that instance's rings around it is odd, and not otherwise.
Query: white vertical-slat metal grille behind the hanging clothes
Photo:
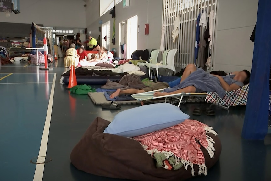
[[[195,57],[195,42],[196,42],[196,26],[198,15],[205,11],[207,21],[211,11],[214,11],[213,20],[213,44],[208,50],[208,57],[211,57],[210,66],[213,67],[213,51],[215,36],[217,0],[163,0],[163,16],[162,25],[165,26],[165,50],[178,49],[175,57],[175,66],[184,68],[190,63],[194,63]],[[179,16],[178,38],[173,43],[172,31],[174,30],[174,21],[176,16]],[[209,22],[210,23],[210,22]],[[205,28],[200,28],[200,43],[203,39]],[[200,49],[200,48],[199,48]],[[198,50],[199,51],[199,50]],[[196,64],[198,59],[196,60]]]

